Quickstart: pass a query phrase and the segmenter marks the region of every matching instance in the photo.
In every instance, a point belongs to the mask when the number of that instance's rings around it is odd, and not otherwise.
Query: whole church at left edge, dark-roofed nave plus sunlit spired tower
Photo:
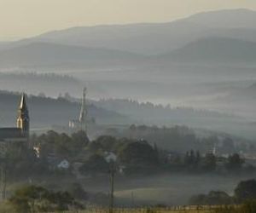
[[[9,142],[26,142],[29,144],[29,113],[26,105],[26,95],[23,93],[18,107],[16,127],[0,128],[0,146]]]

